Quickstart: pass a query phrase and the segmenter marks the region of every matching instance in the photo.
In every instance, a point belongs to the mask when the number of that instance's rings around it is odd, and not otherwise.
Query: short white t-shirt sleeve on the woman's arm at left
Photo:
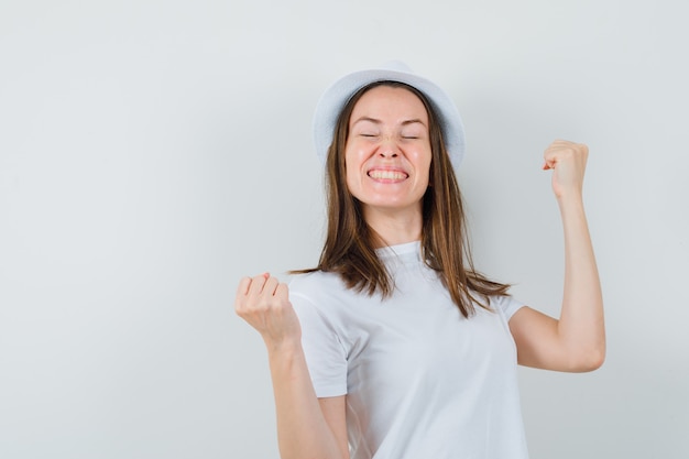
[[[302,347],[318,397],[347,394],[347,354],[335,328],[310,299],[291,295],[302,325]]]

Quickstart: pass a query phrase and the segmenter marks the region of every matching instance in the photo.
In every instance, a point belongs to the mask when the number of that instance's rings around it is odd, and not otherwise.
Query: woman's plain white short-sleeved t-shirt
[[[352,459],[525,459],[516,348],[522,304],[492,297],[466,319],[419,242],[379,250],[392,297],[338,274],[296,276],[289,298],[318,397],[347,394]]]

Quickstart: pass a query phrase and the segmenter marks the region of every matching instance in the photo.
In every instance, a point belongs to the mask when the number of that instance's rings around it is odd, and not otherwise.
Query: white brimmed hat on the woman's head
[[[464,129],[455,102],[435,83],[416,75],[407,65],[398,61],[346,75],[326,89],[314,114],[316,154],[321,163],[326,163],[337,120],[349,99],[359,89],[376,81],[404,83],[426,96],[440,123],[450,162],[457,170],[464,156]]]

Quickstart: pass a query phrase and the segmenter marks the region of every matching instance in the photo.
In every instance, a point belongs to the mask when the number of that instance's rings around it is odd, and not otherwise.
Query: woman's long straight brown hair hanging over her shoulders
[[[464,317],[474,313],[474,303],[488,309],[488,296],[506,296],[510,285],[491,281],[474,270],[463,200],[437,116],[423,92],[397,81],[376,81],[363,87],[340,112],[326,161],[328,228],[324,249],[316,267],[293,273],[338,273],[349,288],[369,295],[380,291],[383,297],[390,297],[394,291],[394,281],[375,253],[375,243],[384,241],[365,222],[361,204],[349,193],[344,173],[352,110],[363,94],[383,85],[412,91],[428,112],[433,157],[430,186],[423,198],[422,258],[438,273]]]

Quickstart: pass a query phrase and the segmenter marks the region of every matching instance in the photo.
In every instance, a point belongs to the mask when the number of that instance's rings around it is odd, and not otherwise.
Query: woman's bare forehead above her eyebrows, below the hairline
[[[350,122],[365,116],[376,119],[406,118],[428,121],[422,99],[409,89],[396,86],[376,86],[367,90],[353,107]]]

